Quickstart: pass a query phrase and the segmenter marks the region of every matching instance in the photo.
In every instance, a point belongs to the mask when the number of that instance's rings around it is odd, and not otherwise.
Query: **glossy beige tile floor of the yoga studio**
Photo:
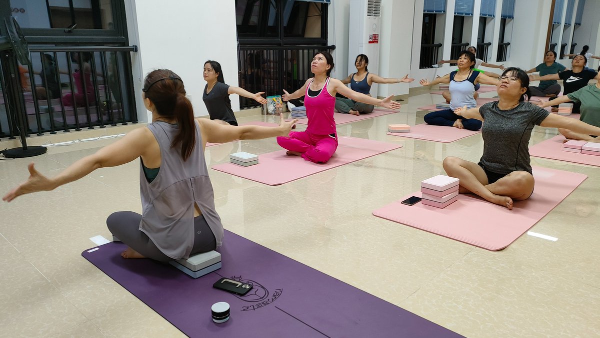
[[[404,101],[400,113],[338,126],[340,135],[403,147],[285,185],[210,170],[223,224],[464,336],[600,336],[600,168],[532,158],[533,165],[589,176],[531,229],[556,241],[524,234],[490,252],[371,215],[418,190],[421,180],[443,174],[446,156],[478,161],[481,135],[446,144],[386,135],[390,123],[422,123],[425,112],[415,113],[416,107],[440,101],[440,95],[420,93]],[[274,117],[239,122],[251,120]],[[556,134],[536,127],[531,143]],[[0,161],[0,192],[25,180],[31,161],[53,176],[114,140],[50,146],[37,158]],[[221,144],[206,149],[206,160],[212,165],[233,152],[278,149],[272,138]],[[1,337],[183,336],[80,255],[94,246],[90,237],[110,238],[110,213],[141,211],[138,179],[134,161],[0,203]]]

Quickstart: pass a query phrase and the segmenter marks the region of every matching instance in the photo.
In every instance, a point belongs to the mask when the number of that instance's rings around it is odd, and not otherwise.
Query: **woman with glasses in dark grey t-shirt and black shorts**
[[[528,147],[533,125],[586,134],[600,132],[598,127],[525,102],[525,96],[530,95],[528,87],[529,77],[523,70],[506,68],[497,88],[500,101],[455,111],[469,119],[485,120],[481,129],[484,153],[478,164],[453,156],[443,161],[448,176],[460,179],[462,194],[476,194],[512,209],[513,200],[526,200],[533,193],[535,182]]]

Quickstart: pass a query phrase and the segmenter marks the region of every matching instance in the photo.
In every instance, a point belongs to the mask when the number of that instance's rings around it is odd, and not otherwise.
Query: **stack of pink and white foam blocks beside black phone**
[[[422,200],[426,206],[445,208],[458,200],[458,179],[437,175],[421,182]]]

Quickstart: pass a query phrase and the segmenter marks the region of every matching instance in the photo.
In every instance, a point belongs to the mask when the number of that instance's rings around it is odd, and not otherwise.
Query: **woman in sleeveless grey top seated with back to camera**
[[[259,139],[287,135],[293,122],[277,127],[222,125],[194,119],[181,77],[170,70],[146,76],[143,101],[152,123],[128,132],[113,144],[86,156],[49,179],[29,164],[29,179],[2,199],[50,191],[102,167],[140,158],[143,214],[115,212],[106,220],[110,232],[129,248],[124,258],[172,261],[221,246],[223,225],[215,211],[211,180],[204,158],[206,142]]]

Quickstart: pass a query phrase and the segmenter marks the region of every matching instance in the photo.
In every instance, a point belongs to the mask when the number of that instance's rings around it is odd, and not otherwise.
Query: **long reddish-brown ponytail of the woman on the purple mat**
[[[184,161],[190,158],[191,152],[196,146],[196,122],[194,121],[194,108],[184,93],[177,93],[173,115],[177,120],[179,132],[173,138],[171,147],[181,144],[181,157]]]

